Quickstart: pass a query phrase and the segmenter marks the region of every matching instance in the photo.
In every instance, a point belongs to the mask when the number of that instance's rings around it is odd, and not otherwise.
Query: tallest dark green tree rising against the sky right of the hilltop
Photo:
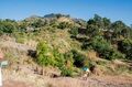
[[[95,14],[94,19],[90,19],[87,22],[86,35],[90,37],[100,35],[103,33],[103,30],[109,30],[111,22],[107,18],[101,18],[98,14]]]

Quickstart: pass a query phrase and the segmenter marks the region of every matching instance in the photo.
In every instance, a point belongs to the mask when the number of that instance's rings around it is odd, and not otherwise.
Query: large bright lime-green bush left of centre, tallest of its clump
[[[37,63],[42,66],[62,67],[65,64],[64,55],[57,50],[51,48],[46,42],[37,45]]]

